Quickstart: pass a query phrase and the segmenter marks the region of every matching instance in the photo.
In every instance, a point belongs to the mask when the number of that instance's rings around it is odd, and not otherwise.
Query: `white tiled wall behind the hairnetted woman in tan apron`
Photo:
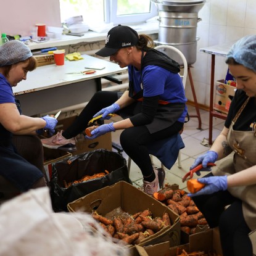
[[[245,35],[256,35],[255,0],[207,0],[199,11],[197,23],[197,60],[191,68],[199,104],[209,106],[211,55],[199,49],[236,41]],[[215,80],[225,78],[225,57],[215,58]],[[189,80],[186,96],[193,101]]]

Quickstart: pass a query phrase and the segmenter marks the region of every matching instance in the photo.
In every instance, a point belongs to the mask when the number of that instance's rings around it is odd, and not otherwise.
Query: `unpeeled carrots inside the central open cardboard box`
[[[110,236],[122,240],[125,244],[133,245],[140,244],[143,239],[166,226],[171,226],[168,213],[163,213],[162,217],[152,218],[152,212],[148,209],[133,215],[123,212],[111,219],[94,211],[92,217],[99,221]]]

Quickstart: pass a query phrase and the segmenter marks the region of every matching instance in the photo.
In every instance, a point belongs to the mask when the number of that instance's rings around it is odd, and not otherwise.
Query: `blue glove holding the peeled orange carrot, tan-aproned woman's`
[[[200,183],[206,184],[206,186],[194,194],[189,193],[188,196],[193,197],[213,194],[217,191],[224,191],[228,188],[227,176],[205,177],[198,179],[198,181],[200,181]]]

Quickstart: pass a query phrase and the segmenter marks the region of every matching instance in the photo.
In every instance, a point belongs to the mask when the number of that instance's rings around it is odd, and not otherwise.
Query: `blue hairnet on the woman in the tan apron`
[[[227,56],[256,72],[256,35],[244,36],[233,44]]]

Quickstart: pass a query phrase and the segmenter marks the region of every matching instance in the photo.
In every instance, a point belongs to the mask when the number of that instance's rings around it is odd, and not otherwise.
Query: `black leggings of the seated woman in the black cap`
[[[108,107],[113,104],[118,99],[118,93],[112,91],[99,91],[94,94],[89,103],[86,105],[85,109],[76,118],[75,122],[67,128],[67,130],[62,133],[66,139],[75,137],[77,134],[81,133],[87,127],[87,123],[94,114],[104,107]],[[125,115],[133,115],[134,112],[138,111],[138,105],[136,102],[120,112]],[[118,114],[118,112],[117,112]],[[123,116],[123,115],[122,115]],[[120,144],[123,150],[131,159],[138,165],[143,176],[150,176],[153,172],[151,159],[149,157],[149,151],[146,144],[149,142],[154,142],[159,139],[164,139],[170,137],[172,134],[178,133],[183,128],[183,123],[176,122],[172,126],[166,128],[165,130],[159,131],[157,133],[149,133],[146,126],[136,126],[123,130],[120,135]]]

